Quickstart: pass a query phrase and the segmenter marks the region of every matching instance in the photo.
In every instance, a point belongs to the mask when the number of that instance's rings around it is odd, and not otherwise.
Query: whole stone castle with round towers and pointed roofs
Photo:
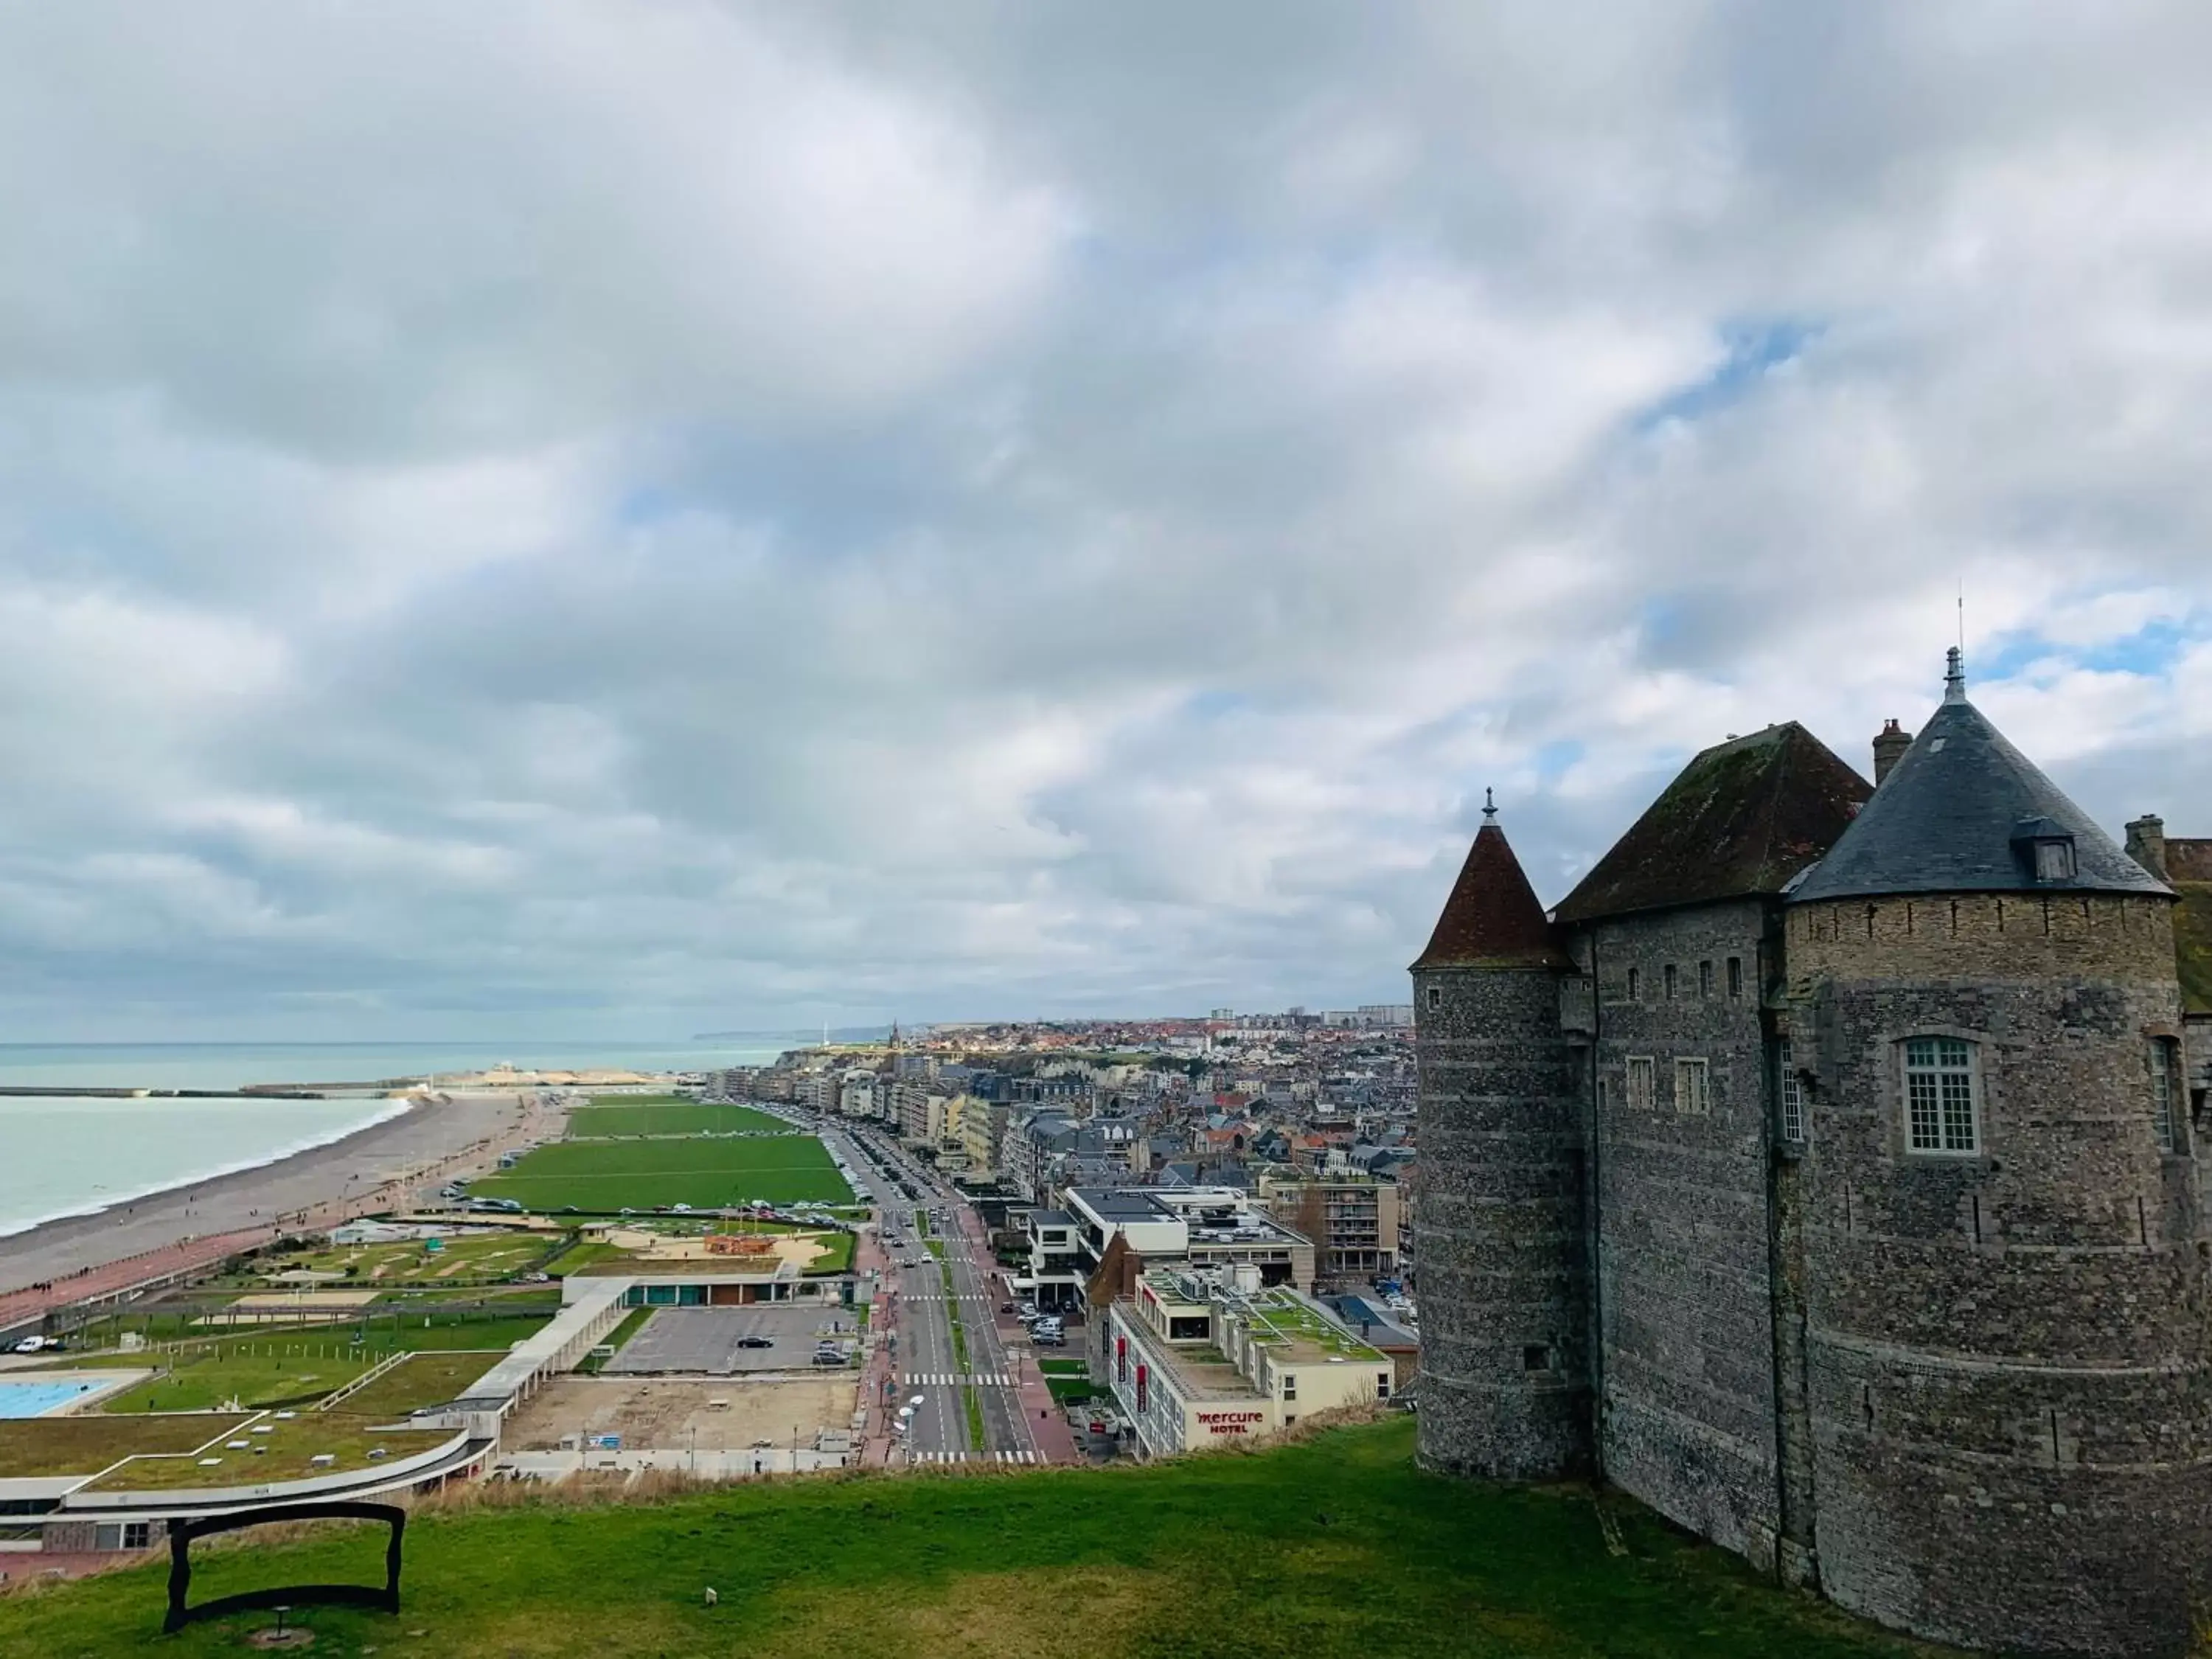
[[[1924,1637],[2212,1601],[2212,841],[1966,699],[1869,785],[1705,750],[1546,916],[1495,812],[1413,962],[1420,1458],[1601,1475]]]

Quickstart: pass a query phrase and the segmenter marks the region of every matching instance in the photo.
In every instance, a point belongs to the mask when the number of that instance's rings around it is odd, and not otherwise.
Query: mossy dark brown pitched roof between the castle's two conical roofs
[[[1796,721],[1697,754],[1557,909],[1562,922],[1778,894],[1871,785]]]

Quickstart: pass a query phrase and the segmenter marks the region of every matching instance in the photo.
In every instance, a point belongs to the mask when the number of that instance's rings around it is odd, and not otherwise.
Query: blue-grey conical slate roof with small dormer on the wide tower
[[[2033,843],[2039,838],[2073,841],[2070,876],[2037,880]],[[1790,900],[1991,891],[2172,889],[2112,845],[1966,701],[1953,653],[1942,706]]]

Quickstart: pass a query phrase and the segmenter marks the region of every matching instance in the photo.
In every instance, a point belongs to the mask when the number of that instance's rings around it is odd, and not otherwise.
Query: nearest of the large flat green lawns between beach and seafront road
[[[650,1210],[657,1203],[708,1210],[750,1199],[852,1199],[852,1188],[812,1135],[754,1141],[557,1141],[538,1148],[504,1175],[487,1175],[471,1192],[518,1199],[531,1210],[573,1206],[595,1214]]]

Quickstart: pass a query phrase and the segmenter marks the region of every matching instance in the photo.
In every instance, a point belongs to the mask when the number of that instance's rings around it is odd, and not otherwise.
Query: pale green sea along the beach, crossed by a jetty
[[[0,1044],[0,1237],[272,1164],[405,1110],[394,1099],[106,1099],[84,1088],[243,1088],[546,1071],[759,1066],[818,1033],[670,1044]]]

